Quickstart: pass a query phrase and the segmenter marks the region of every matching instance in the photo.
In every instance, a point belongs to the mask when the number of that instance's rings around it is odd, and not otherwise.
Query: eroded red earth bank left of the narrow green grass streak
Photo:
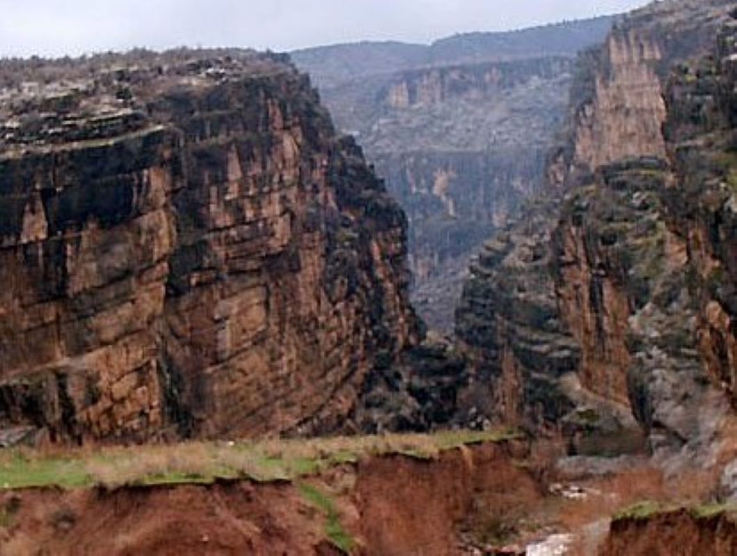
[[[20,506],[2,556],[315,555],[323,538],[291,485],[27,490],[4,503]]]

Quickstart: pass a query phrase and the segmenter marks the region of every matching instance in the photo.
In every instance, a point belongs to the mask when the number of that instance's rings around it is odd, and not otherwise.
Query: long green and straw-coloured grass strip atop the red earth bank
[[[181,443],[41,454],[0,450],[0,489],[104,485],[212,484],[218,479],[273,482],[320,474],[362,457],[402,454],[423,460],[443,451],[522,436],[510,430],[386,434],[242,443]]]

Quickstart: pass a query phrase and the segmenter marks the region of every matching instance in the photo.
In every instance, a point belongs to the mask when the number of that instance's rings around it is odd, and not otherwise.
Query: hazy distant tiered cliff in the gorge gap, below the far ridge
[[[433,328],[450,327],[470,254],[541,186],[571,67],[542,59],[405,74],[360,139],[408,212],[413,300]]]

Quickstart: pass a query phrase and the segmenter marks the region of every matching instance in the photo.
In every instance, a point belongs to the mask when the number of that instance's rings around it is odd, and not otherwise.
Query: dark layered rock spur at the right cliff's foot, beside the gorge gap
[[[641,434],[621,395],[587,388],[590,357],[560,310],[553,240],[558,205],[528,203],[523,217],[497,233],[471,266],[456,311],[455,332],[471,386],[461,407],[535,434],[561,431],[579,453],[630,451]],[[626,393],[624,393],[626,398]]]

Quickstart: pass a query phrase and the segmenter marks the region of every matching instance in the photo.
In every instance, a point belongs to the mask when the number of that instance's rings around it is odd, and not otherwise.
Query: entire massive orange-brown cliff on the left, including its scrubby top
[[[335,426],[416,320],[405,216],[307,77],[250,52],[60,64],[1,93],[3,426]]]

